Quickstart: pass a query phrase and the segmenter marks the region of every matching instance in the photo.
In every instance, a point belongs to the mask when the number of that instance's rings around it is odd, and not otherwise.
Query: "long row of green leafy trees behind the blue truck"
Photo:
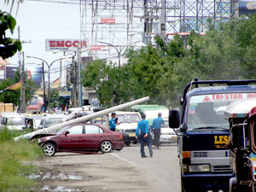
[[[190,32],[168,43],[156,37],[156,45],[130,49],[123,67],[91,62],[82,83],[106,105],[150,96],[150,103],[174,108],[191,79],[255,79],[256,15],[209,25],[203,36]]]

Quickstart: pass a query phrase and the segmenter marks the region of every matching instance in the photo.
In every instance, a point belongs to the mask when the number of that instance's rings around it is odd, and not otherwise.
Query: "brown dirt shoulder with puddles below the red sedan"
[[[152,191],[145,172],[114,153],[60,153],[35,164],[41,169],[36,191]]]

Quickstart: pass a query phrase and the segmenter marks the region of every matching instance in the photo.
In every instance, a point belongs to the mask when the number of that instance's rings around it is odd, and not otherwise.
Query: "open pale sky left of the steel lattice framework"
[[[0,0],[0,9],[9,12],[9,5]],[[60,59],[62,52],[53,53],[45,51],[45,39],[47,38],[80,38],[80,14],[79,4],[42,3],[24,1],[20,3],[18,15],[16,15],[17,4],[11,13],[17,21],[15,32],[7,37],[18,38],[18,26],[20,26],[20,40],[28,43],[22,44],[22,51],[25,54],[25,67],[38,67],[42,61],[27,58],[26,55],[36,56],[44,59],[49,64]],[[30,42],[30,43],[29,43]],[[16,53],[8,61],[18,65],[19,54]],[[36,63],[36,64],[32,64]],[[46,66],[45,66],[46,67]],[[60,62],[56,61],[51,68],[50,82],[59,77]],[[47,67],[46,67],[47,68]]]

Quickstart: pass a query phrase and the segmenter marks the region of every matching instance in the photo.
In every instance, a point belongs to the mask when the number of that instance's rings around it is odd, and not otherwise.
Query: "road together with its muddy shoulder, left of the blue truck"
[[[180,191],[177,146],[154,149],[153,158],[141,158],[139,145],[110,154],[59,153],[36,164],[42,172],[37,191]],[[146,148],[148,154],[148,148]]]

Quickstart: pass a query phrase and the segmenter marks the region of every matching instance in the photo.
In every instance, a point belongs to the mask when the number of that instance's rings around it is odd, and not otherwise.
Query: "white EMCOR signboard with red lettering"
[[[86,48],[87,42],[80,41],[79,39],[45,39],[45,50],[46,51],[76,51],[78,48]]]

